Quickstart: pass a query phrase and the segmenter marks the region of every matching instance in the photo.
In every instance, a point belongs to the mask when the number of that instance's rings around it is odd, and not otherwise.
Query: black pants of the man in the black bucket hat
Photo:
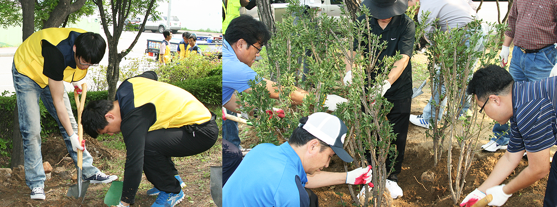
[[[402,161],[404,160],[404,150],[406,148],[406,138],[408,137],[408,124],[410,122],[410,109],[412,104],[412,98],[402,99],[402,100],[388,100],[393,103],[393,108],[387,114],[387,119],[390,124],[393,124],[393,133],[397,134],[397,139],[395,139],[391,144],[397,146],[396,157],[388,156],[387,161],[385,161],[385,166],[387,166],[387,171],[389,170],[389,165],[394,161],[393,171],[390,173],[387,179],[397,182],[397,175],[402,171]],[[372,163],[369,152],[365,154],[368,159],[368,163]]]

